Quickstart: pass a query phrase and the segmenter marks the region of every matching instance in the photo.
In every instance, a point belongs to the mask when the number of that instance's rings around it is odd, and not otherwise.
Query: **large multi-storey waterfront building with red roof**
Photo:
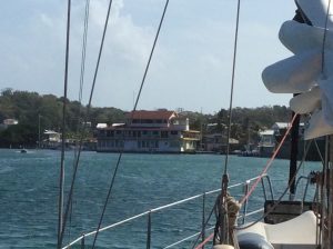
[[[125,123],[99,126],[98,151],[191,152],[200,141],[200,132],[190,130],[189,119],[174,111],[134,111]]]

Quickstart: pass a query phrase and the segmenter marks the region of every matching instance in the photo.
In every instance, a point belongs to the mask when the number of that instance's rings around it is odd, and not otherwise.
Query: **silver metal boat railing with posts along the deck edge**
[[[243,187],[243,191],[242,191],[241,195],[242,196],[246,196],[248,192],[249,192],[249,189],[251,187],[251,183],[253,181],[256,181],[259,178],[261,178],[261,183],[262,183],[262,190],[263,190],[263,198],[264,198],[264,200],[266,200],[266,198],[268,198],[268,193],[266,193],[268,191],[269,191],[271,198],[274,199],[271,179],[270,179],[270,177],[268,175],[258,176],[258,177],[251,178],[251,179],[249,179],[249,180],[246,180],[244,182],[231,185],[231,186],[229,186],[229,190],[232,190],[234,188],[241,188],[241,187]],[[266,189],[265,181],[268,183],[269,190]],[[148,211],[144,211],[144,212],[139,213],[137,216],[132,216],[130,218],[121,220],[119,222],[105,226],[105,227],[99,229],[99,232],[110,230],[112,228],[115,228],[115,227],[119,227],[121,225],[131,222],[131,221],[137,220],[137,219],[142,218],[142,217],[147,217],[147,220],[148,220],[147,221],[147,248],[151,248],[151,240],[152,240],[152,237],[151,237],[151,233],[152,233],[152,215],[154,212],[162,211],[162,210],[165,210],[165,209],[169,209],[169,208],[172,208],[172,207],[180,206],[182,203],[189,202],[191,200],[195,200],[195,199],[202,198],[202,226],[201,226],[201,230],[199,232],[195,232],[194,235],[191,235],[191,236],[189,236],[186,238],[183,238],[183,239],[181,239],[181,240],[179,240],[176,242],[173,242],[171,245],[168,245],[168,246],[165,246],[163,248],[175,247],[175,246],[178,246],[178,245],[180,245],[180,243],[182,243],[184,241],[189,241],[189,240],[191,240],[191,239],[193,239],[195,237],[201,237],[201,240],[203,241],[205,239],[205,232],[208,232],[208,231],[210,231],[210,230],[213,229],[212,226],[208,227],[208,220],[206,220],[208,217],[205,216],[206,201],[208,201],[206,197],[211,196],[211,195],[214,195],[214,193],[219,193],[219,192],[221,192],[221,189],[215,189],[215,190],[203,192],[203,193],[200,193],[200,195],[196,195],[196,196],[192,196],[192,197],[189,197],[189,198],[185,198],[185,199],[182,199],[182,200],[169,203],[169,205],[164,205],[164,206],[161,206],[161,207],[148,210]],[[251,212],[248,212],[248,207],[249,207],[249,201],[245,200],[244,203],[243,203],[242,212],[239,216],[239,218],[240,218],[239,222],[240,223],[244,223],[245,222],[245,218],[248,218],[250,216],[254,216],[254,215],[260,213],[260,212],[263,211],[263,208],[260,208],[260,209],[253,210]],[[85,248],[85,239],[88,237],[94,236],[97,232],[98,231],[94,230],[94,231],[91,231],[91,232],[88,232],[88,233],[83,233],[82,236],[78,237],[77,239],[74,239],[73,241],[71,241],[70,243],[68,243],[67,246],[62,247],[62,249],[68,249],[71,246],[78,245],[78,243],[80,243],[81,248],[84,249]]]

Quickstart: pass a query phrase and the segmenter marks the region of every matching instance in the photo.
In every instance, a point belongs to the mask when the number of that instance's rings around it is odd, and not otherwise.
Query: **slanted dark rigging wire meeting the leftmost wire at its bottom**
[[[98,57],[98,61],[97,61],[97,66],[95,66],[95,71],[94,71],[94,77],[93,77],[91,91],[90,91],[90,98],[89,98],[89,102],[88,102],[88,106],[87,106],[85,120],[83,122],[83,128],[82,128],[83,131],[85,130],[87,118],[89,117],[90,109],[91,109],[91,101],[92,101],[92,96],[93,96],[93,91],[94,91],[94,87],[95,87],[97,74],[98,74],[98,71],[99,71],[99,64],[100,64],[100,60],[101,60],[103,44],[104,44],[104,40],[105,40],[105,33],[107,33],[107,29],[108,29],[111,7],[112,7],[112,0],[109,1],[108,13],[107,13],[105,22],[104,22],[102,40],[101,40],[100,50],[99,50],[99,57]],[[63,217],[63,225],[62,225],[61,235],[60,235],[60,239],[59,239],[60,240],[60,246],[62,245],[62,241],[63,241],[63,231],[65,229],[65,223],[67,223],[67,218],[68,218],[68,213],[69,213],[69,209],[70,209],[70,203],[71,203],[72,196],[73,196],[73,189],[74,189],[74,183],[75,183],[75,178],[77,178],[77,172],[78,172],[78,167],[79,167],[79,161],[80,161],[80,155],[81,155],[81,151],[82,151],[82,142],[83,142],[83,132],[81,133],[81,137],[80,137],[79,152],[78,152],[78,156],[77,156],[75,167],[74,167],[74,170],[73,170],[71,187],[70,187],[68,201],[67,201],[67,206],[65,206],[65,212],[64,212],[64,217]]]

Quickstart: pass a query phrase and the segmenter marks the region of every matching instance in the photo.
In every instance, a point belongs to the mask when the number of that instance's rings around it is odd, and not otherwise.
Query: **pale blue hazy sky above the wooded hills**
[[[92,106],[132,110],[164,0],[113,0]],[[228,109],[236,0],[170,0],[138,109],[214,113]],[[90,0],[82,102],[92,86],[108,0]],[[79,99],[85,0],[72,0],[68,98]],[[241,0],[233,107],[289,104],[269,92],[262,70],[290,57],[278,33],[292,0]],[[63,96],[65,0],[3,1],[0,90]]]

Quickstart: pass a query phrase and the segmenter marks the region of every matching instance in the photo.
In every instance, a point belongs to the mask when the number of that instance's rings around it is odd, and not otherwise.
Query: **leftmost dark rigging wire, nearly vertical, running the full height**
[[[70,43],[70,22],[71,22],[71,0],[68,0],[67,13],[67,38],[65,38],[65,62],[63,79],[63,107],[62,107],[62,147],[61,147],[61,165],[59,179],[59,217],[58,217],[58,248],[61,248],[61,237],[63,233],[63,187],[64,187],[64,136],[65,136],[65,108],[68,91],[68,68],[69,68],[69,43]]]

